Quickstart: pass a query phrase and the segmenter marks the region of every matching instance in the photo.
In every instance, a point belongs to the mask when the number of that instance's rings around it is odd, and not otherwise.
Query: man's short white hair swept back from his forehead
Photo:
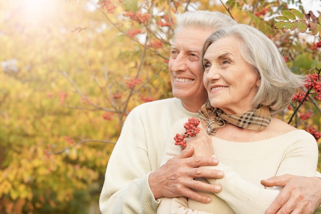
[[[212,29],[213,32],[219,28],[235,25],[236,22],[230,16],[217,12],[206,10],[187,11],[176,14],[176,33],[184,27],[196,27]]]

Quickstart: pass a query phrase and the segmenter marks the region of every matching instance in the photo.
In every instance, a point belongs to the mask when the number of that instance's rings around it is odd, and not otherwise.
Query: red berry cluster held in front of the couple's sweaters
[[[183,135],[176,134],[174,137],[175,145],[182,145],[186,147],[186,141],[185,138],[188,137],[194,137],[197,133],[199,133],[200,129],[198,127],[199,120],[195,118],[189,118],[188,122],[184,124],[184,128],[186,129],[186,132]]]

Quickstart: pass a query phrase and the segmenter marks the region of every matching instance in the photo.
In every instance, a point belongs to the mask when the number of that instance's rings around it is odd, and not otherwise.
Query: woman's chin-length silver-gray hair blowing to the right
[[[288,107],[296,89],[304,86],[305,77],[294,74],[275,44],[264,33],[249,25],[237,24],[222,28],[207,38],[200,56],[203,72],[206,50],[212,43],[226,37],[238,41],[240,54],[260,78],[260,86],[252,102],[253,108],[268,106],[274,116]]]

